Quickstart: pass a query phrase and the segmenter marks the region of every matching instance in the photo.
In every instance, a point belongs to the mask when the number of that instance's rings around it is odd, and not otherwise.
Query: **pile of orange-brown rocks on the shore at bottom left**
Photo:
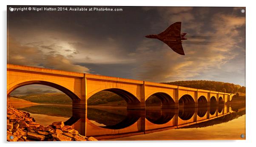
[[[7,141],[97,141],[85,137],[63,122],[43,126],[35,122],[29,113],[7,105]]]

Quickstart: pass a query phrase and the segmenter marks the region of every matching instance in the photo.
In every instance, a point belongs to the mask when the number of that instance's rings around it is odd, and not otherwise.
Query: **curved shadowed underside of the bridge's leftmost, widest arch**
[[[25,81],[25,82],[19,82],[17,84],[13,84],[12,86],[9,85],[9,89],[7,89],[7,95],[9,95],[13,90],[25,86],[25,85],[33,85],[33,84],[38,84],[38,85],[46,85],[46,86],[50,86],[52,88],[56,88],[60,91],[62,91],[63,93],[65,93],[67,96],[69,96],[73,101],[74,100],[80,100],[80,98],[73,93],[71,90],[69,90],[68,88],[65,88],[61,85],[52,83],[52,82],[47,82],[47,81]]]

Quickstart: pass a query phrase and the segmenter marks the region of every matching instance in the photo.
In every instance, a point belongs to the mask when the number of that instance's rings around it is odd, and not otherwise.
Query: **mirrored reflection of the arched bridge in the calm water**
[[[213,119],[217,120],[226,116],[232,120],[229,115],[241,111],[245,113],[244,110],[245,106],[230,107],[230,105],[224,104],[185,109],[120,110],[119,113],[117,110],[89,108],[83,113],[82,110],[79,112],[74,110],[74,116],[65,124],[72,124],[76,130],[86,136],[94,136],[97,139],[114,139],[181,127],[193,127],[193,125],[211,122]]]

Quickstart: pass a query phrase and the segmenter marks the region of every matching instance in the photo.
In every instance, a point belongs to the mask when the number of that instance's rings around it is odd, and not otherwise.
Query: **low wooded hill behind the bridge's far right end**
[[[245,93],[245,87],[240,85],[235,85],[226,82],[216,82],[216,81],[206,81],[206,80],[195,80],[195,81],[176,81],[176,82],[166,82],[165,84],[178,85],[189,88],[213,90],[226,93]]]

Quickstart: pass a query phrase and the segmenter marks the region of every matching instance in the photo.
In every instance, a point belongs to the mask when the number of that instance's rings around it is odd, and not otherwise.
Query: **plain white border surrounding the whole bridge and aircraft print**
[[[17,146],[27,146],[27,147],[44,147],[48,145],[61,145],[61,146],[116,146],[120,147],[130,147],[134,145],[138,146],[189,146],[189,147],[198,147],[207,146],[207,147],[216,147],[216,146],[255,146],[255,99],[256,96],[253,94],[254,83],[255,83],[255,5],[253,5],[253,0],[91,0],[91,1],[79,1],[79,0],[70,0],[70,1],[53,1],[53,0],[8,0],[0,2],[1,8],[1,58],[0,58],[0,69],[1,69],[1,133],[0,139],[3,146],[17,147]],[[237,6],[237,7],[246,7],[246,92],[247,92],[247,111],[246,111],[246,140],[245,141],[101,141],[101,142],[16,142],[16,143],[6,143],[6,5],[66,5],[66,6]],[[253,19],[254,18],[254,19]],[[253,36],[254,35],[254,36]],[[253,145],[254,144],[254,145]]]

